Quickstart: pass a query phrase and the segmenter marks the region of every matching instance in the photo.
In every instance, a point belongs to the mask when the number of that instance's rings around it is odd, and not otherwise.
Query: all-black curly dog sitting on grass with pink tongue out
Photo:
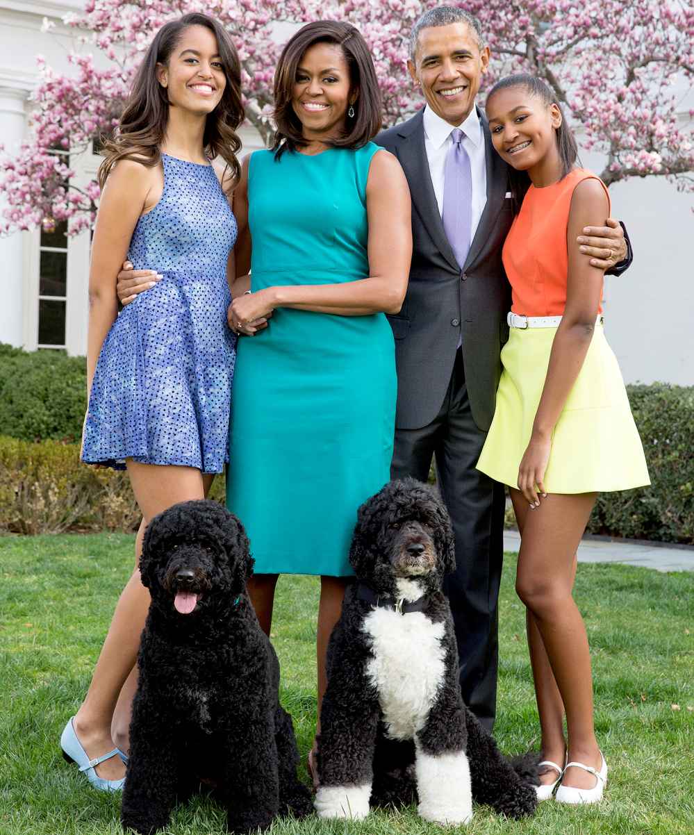
[[[144,535],[142,582],[152,595],[139,648],[121,821],[166,826],[176,800],[216,784],[232,832],[277,814],[312,811],[296,777],[280,667],[246,595],[253,559],[236,516],[220,504],[175,504]]]

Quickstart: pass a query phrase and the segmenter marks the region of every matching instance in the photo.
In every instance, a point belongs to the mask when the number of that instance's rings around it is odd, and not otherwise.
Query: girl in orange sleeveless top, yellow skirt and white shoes
[[[504,78],[490,91],[494,148],[530,186],[504,245],[513,289],[494,421],[478,468],[509,485],[521,535],[516,578],[542,731],[538,797],[600,800],[585,625],[572,597],[576,549],[600,490],[649,483],[600,316],[603,271],[575,251],[610,215],[605,185],[575,167],[575,139],[545,83]],[[568,746],[564,737],[566,714]]]

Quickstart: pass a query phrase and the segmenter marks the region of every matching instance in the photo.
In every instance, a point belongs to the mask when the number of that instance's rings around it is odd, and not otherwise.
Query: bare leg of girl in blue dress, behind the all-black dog
[[[149,609],[149,592],[140,582],[137,568],[144,529],[149,519],[172,504],[191,498],[205,498],[214,478],[190,467],[160,467],[130,459],[127,465],[143,519],[135,541],[136,567],[120,595],[89,691],[74,719],[75,731],[89,757],[100,757],[113,749],[112,723],[117,741],[121,743],[119,747],[126,752],[128,749],[127,727],[134,696],[132,681],[124,699],[119,700],[119,696],[134,671],[139,636]],[[117,705],[120,718],[116,715]],[[119,757],[112,757],[102,762],[96,772],[106,780],[117,780],[124,776],[125,769]]]

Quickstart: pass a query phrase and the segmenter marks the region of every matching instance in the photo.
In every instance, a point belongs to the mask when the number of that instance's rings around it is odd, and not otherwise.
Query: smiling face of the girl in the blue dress
[[[189,26],[169,62],[157,65],[157,80],[173,107],[207,115],[220,103],[226,87],[224,64],[215,35],[205,26]]]

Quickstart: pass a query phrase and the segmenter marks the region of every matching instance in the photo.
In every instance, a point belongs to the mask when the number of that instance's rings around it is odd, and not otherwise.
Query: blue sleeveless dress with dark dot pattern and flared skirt
[[[226,261],[236,219],[210,165],[162,154],[164,191],[130,241],[136,270],[164,278],[120,312],[89,397],[82,460],[124,458],[220,473],[229,460],[236,336]]]

